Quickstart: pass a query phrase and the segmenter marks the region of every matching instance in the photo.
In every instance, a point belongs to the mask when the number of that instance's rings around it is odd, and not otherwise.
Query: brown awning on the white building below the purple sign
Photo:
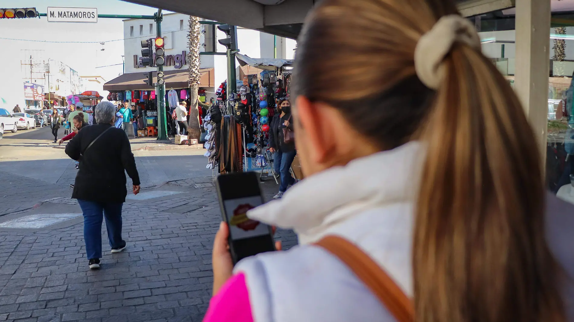
[[[204,68],[200,70],[201,81],[200,87],[214,87],[215,86],[215,73],[213,68]],[[189,72],[185,70],[168,70],[164,72],[165,88],[178,89],[189,88]],[[150,91],[154,87],[144,83],[147,73],[127,73],[114,78],[104,84],[104,91],[118,92],[127,90],[137,91]],[[153,82],[157,81],[157,72],[153,72]]]

